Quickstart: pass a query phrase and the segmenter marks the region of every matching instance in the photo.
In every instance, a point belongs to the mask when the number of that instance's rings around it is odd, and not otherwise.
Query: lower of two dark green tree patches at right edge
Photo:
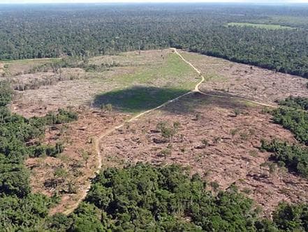
[[[308,149],[300,145],[290,145],[279,140],[262,141],[261,150],[272,152],[270,159],[279,166],[285,166],[292,173],[308,177]]]

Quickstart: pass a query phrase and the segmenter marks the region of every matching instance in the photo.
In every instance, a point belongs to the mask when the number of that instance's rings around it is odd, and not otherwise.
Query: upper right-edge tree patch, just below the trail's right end
[[[300,143],[308,145],[308,112],[306,98],[288,98],[279,103],[281,106],[272,111],[273,121],[294,133]]]

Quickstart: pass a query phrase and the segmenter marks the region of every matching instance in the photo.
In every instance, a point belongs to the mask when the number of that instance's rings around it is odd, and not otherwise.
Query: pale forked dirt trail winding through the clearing
[[[201,84],[203,84],[203,82],[205,82],[205,77],[202,75],[202,73],[198,70],[198,68],[196,68],[195,66],[193,66],[193,64],[191,64],[189,61],[186,61],[186,59],[181,55],[179,54],[179,52],[177,52],[177,49],[176,48],[171,48],[186,64],[189,64],[189,66],[191,66],[191,68],[193,68],[194,71],[196,71],[196,73],[198,73],[198,75],[200,76],[201,80],[200,82],[198,82],[198,84],[196,85],[196,87],[190,91],[190,92],[186,92],[186,94],[182,94],[180,96],[177,96],[175,99],[172,99],[170,101],[166,101],[165,103],[161,104],[160,106],[157,106],[156,108],[152,108],[150,110],[146,110],[138,115],[135,115],[134,117],[132,117],[131,119],[127,120],[126,122],[124,122],[123,124],[120,124],[118,126],[115,126],[115,127],[112,127],[111,129],[108,129],[107,131],[101,133],[100,136],[98,136],[98,138],[96,138],[95,140],[95,150],[96,150],[96,153],[97,153],[97,167],[96,167],[96,172],[94,173],[93,176],[90,177],[90,181],[88,182],[88,184],[85,186],[84,189],[82,189],[82,195],[80,196],[80,198],[78,199],[78,201],[76,201],[73,205],[70,205],[69,208],[67,210],[65,210],[63,213],[64,215],[69,215],[71,214],[76,208],[78,208],[78,205],[81,203],[81,201],[83,201],[88,192],[89,192],[89,189],[91,188],[91,180],[96,176],[97,173],[99,173],[99,171],[101,171],[101,168],[102,168],[102,155],[101,155],[101,147],[100,147],[100,144],[101,144],[101,140],[103,140],[103,138],[105,138],[105,136],[108,136],[110,135],[112,132],[116,131],[117,129],[120,129],[122,128],[126,123],[128,122],[133,122],[135,121],[136,119],[142,117],[143,115],[146,115],[148,113],[151,113],[152,111],[154,110],[159,110],[160,108],[163,108],[164,106],[168,105],[169,103],[172,103],[173,101],[177,101],[178,99],[181,99],[182,97],[184,96],[187,96],[189,94],[192,94],[194,92],[198,92],[200,94],[203,94],[203,95],[206,95],[206,96],[212,96],[212,97],[217,97],[217,98],[223,98],[223,99],[237,99],[237,100],[243,100],[243,101],[248,101],[250,103],[254,103],[256,105],[259,105],[259,106],[266,106],[266,107],[270,107],[270,108],[277,108],[277,106],[272,106],[272,105],[268,105],[268,104],[265,104],[265,103],[260,103],[260,102],[257,102],[257,101],[251,101],[251,100],[247,100],[247,99],[244,99],[242,97],[237,97],[237,96],[220,96],[220,95],[214,95],[214,94],[207,94],[205,92],[202,92],[200,91],[199,87]]]

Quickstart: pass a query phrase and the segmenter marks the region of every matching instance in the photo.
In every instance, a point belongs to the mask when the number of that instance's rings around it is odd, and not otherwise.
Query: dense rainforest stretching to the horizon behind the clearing
[[[177,47],[308,77],[307,15],[305,5],[2,5],[0,59]]]

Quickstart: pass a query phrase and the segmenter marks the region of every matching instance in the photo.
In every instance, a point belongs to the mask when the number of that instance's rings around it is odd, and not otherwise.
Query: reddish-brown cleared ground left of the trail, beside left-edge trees
[[[102,131],[121,124],[127,117],[124,114],[101,113],[89,109],[78,110],[78,113],[77,122],[47,129],[45,143],[54,144],[55,141],[62,141],[65,144],[65,150],[59,157],[34,158],[26,161],[32,173],[31,186],[34,192],[47,196],[60,194],[61,202],[57,208],[52,209],[52,212],[63,212],[64,205],[68,207],[78,199],[78,194],[67,192],[68,182],[72,182],[79,193],[96,171],[98,157],[95,152],[94,138]],[[85,151],[89,152],[87,162],[82,158],[82,152]],[[64,180],[54,176],[57,168],[66,170],[67,176]],[[57,184],[51,184],[52,182]]]

